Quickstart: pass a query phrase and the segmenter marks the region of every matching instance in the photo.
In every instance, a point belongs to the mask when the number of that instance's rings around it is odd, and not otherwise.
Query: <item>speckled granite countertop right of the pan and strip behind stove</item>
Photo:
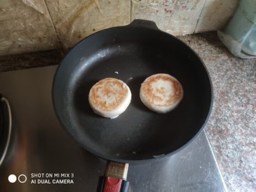
[[[206,132],[229,191],[256,191],[256,59],[239,59],[216,32],[180,37],[203,59],[214,105]],[[64,51],[0,57],[0,71],[58,64]]]

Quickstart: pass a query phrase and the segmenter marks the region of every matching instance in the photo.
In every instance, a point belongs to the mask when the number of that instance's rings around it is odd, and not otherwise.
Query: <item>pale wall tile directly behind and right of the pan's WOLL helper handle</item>
[[[205,0],[132,0],[131,19],[146,19],[175,36],[192,34]]]

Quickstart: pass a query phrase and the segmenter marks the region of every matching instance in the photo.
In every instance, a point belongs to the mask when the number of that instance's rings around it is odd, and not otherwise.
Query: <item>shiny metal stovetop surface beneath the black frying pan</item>
[[[0,93],[9,99],[13,116],[0,167],[1,192],[94,192],[104,174],[106,161],[81,148],[55,117],[51,89],[56,68],[0,73]],[[130,165],[127,180],[130,192],[226,191],[204,131],[175,155]]]

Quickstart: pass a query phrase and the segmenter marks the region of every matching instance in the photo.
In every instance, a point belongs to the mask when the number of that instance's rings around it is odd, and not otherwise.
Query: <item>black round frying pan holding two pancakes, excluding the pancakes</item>
[[[166,114],[150,111],[139,98],[140,84],[157,73],[174,76],[184,91],[180,104]],[[88,102],[92,85],[107,77],[126,82],[132,92],[129,107],[116,119],[98,116]],[[100,158],[124,163],[184,148],[203,130],[213,102],[209,74],[198,55],[145,20],[76,44],[59,65],[52,91],[55,113],[75,140]]]

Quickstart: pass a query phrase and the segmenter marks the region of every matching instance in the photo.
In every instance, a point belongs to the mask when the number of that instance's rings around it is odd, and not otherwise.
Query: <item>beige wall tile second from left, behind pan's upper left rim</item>
[[[46,4],[65,48],[96,31],[130,23],[129,0],[46,0]]]

